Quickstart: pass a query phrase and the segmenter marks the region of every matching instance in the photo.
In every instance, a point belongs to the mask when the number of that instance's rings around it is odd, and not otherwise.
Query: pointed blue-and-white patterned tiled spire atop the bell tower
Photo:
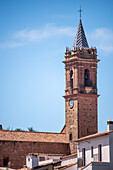
[[[82,26],[81,19],[80,19],[80,22],[79,22],[75,41],[74,41],[74,44],[73,44],[73,48],[78,48],[78,47],[83,48],[83,49],[89,48],[88,43],[87,43],[87,39],[86,39],[86,36],[85,36],[85,33],[84,33],[84,29],[83,29],[83,26]]]

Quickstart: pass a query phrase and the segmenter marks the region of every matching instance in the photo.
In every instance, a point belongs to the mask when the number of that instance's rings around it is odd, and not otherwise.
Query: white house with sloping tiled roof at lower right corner
[[[113,170],[113,130],[77,140],[78,169]]]

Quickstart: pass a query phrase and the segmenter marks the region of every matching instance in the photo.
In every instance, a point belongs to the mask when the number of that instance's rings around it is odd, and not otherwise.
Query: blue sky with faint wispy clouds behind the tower
[[[0,0],[0,124],[60,132],[64,53],[79,24],[98,50],[98,126],[113,120],[113,0]]]

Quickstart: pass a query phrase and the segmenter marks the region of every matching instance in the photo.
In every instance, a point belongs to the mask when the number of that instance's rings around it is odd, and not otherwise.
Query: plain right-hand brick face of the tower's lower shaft
[[[78,138],[97,132],[97,97],[83,96],[78,99]]]

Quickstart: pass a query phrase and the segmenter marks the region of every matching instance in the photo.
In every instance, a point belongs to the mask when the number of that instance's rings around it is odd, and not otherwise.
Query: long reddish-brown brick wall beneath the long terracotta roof
[[[26,164],[29,153],[68,154],[68,144],[65,143],[38,143],[38,142],[0,142],[0,167],[3,159],[8,158],[11,168],[22,168]]]

